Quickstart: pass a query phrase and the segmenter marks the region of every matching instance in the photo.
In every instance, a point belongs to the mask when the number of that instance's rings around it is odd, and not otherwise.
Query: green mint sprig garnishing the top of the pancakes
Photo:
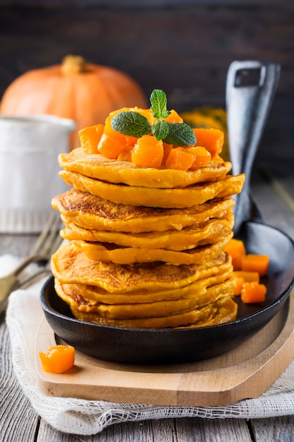
[[[166,94],[163,90],[154,89],[150,95],[151,110],[157,120],[151,126],[146,117],[139,112],[119,112],[111,119],[112,129],[127,136],[140,138],[143,135],[152,135],[157,140],[163,140],[168,144],[189,146],[196,143],[195,133],[185,123],[168,123],[164,119],[171,112],[167,109]]]

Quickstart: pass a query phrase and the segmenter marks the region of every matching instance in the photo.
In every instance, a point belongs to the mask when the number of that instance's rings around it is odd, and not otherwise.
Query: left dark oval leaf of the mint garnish
[[[148,135],[152,131],[147,118],[133,111],[123,111],[116,114],[111,119],[111,127],[114,131],[123,133],[123,135],[135,136],[137,138]]]

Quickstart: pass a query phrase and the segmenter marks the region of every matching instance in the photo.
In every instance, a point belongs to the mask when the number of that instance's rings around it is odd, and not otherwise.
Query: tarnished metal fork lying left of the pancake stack
[[[37,241],[32,247],[30,255],[21,261],[21,263],[18,264],[18,266],[12,270],[11,273],[0,277],[0,312],[6,309],[8,297],[13,290],[27,285],[38,275],[49,272],[44,265],[49,262],[52,253],[59,248],[61,242],[63,241],[59,234],[61,225],[60,214],[52,213],[44,226],[44,229],[39,234]],[[21,273],[23,273],[23,270],[25,270],[25,268],[27,268],[27,266],[31,263],[42,264],[42,270],[37,270],[37,272],[33,273],[32,275],[22,278]]]

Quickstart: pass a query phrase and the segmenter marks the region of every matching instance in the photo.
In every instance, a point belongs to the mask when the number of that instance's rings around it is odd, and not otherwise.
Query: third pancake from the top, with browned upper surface
[[[226,216],[234,205],[233,198],[214,198],[204,204],[183,209],[149,208],[145,206],[116,204],[88,192],[70,189],[52,199],[52,206],[59,210],[68,225],[75,223],[88,231],[113,232],[165,232],[183,229],[210,218]],[[90,239],[94,241],[94,237]]]

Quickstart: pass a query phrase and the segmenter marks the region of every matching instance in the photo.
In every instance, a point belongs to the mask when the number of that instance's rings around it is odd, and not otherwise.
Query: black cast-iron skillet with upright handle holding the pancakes
[[[236,198],[235,236],[245,241],[247,252],[269,255],[269,274],[264,277],[267,301],[257,305],[239,300],[235,321],[211,327],[116,328],[73,318],[68,305],[54,291],[54,278],[49,277],[42,287],[41,303],[56,342],[61,338],[80,352],[111,362],[175,364],[216,357],[238,347],[261,330],[281,308],[286,318],[294,280],[294,244],[286,234],[261,222],[250,197],[249,183],[252,162],[276,90],[278,71],[274,64],[234,62],[227,80],[233,173],[247,175],[245,187]]]

